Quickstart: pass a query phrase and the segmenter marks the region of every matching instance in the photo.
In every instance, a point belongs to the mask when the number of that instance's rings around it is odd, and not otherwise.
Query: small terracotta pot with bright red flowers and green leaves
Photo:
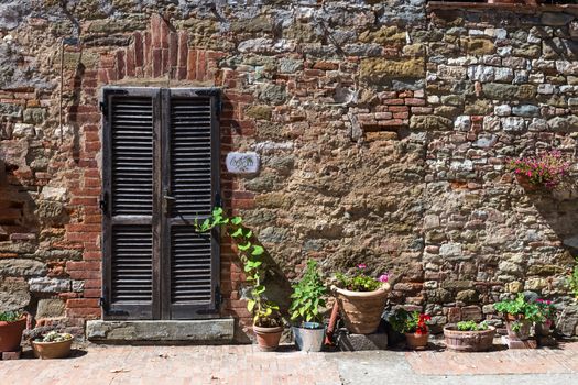
[[[427,346],[429,328],[426,321],[432,317],[419,311],[407,311],[403,308],[395,310],[389,318],[393,330],[405,334],[407,348],[421,350]]]

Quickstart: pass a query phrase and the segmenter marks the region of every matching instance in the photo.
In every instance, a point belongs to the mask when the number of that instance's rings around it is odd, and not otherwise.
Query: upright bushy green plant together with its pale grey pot
[[[319,309],[325,307],[323,298],[327,293],[319,272],[317,262],[307,261],[307,270],[303,277],[293,285],[290,315],[292,321],[297,321],[293,327],[295,343],[304,352],[320,352],[325,339],[325,326]]]

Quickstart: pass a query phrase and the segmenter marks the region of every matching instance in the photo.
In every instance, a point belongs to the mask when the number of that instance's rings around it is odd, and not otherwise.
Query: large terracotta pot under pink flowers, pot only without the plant
[[[331,286],[347,330],[355,334],[371,334],[378,330],[390,284],[373,292],[351,292]]]

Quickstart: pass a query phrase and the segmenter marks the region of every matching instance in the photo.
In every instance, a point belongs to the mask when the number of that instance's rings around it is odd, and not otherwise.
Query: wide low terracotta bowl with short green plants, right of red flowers
[[[446,346],[460,352],[483,352],[493,345],[495,328],[486,321],[461,321],[444,328]]]

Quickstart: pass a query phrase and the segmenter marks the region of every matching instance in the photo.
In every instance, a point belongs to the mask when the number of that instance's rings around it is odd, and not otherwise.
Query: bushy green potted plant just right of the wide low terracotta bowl
[[[493,304],[493,308],[505,316],[505,327],[510,339],[521,341],[530,339],[532,324],[543,320],[536,302],[527,301],[522,293],[515,299]]]

